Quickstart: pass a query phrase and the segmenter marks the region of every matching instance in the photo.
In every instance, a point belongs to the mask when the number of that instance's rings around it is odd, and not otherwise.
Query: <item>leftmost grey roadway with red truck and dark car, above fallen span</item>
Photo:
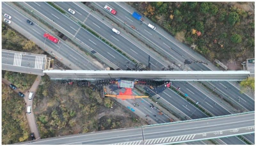
[[[98,66],[89,62],[86,59],[86,57],[78,53],[76,50],[70,48],[65,43],[60,41],[59,44],[55,44],[50,40],[44,38],[43,35],[46,31],[43,28],[38,26],[36,23],[33,26],[29,25],[26,22],[26,20],[29,18],[25,17],[24,15],[22,15],[20,12],[13,9],[11,6],[9,6],[5,2],[2,2],[2,14],[4,15],[4,13],[7,13],[12,16],[12,19],[11,19],[12,23],[8,25],[10,25],[11,27],[16,29],[18,32],[20,32],[23,35],[24,33],[28,33],[29,34],[28,39],[35,42],[43,50],[45,51],[52,50],[52,52],[50,53],[52,56],[58,59],[62,59],[58,55],[60,54],[61,56],[69,59],[71,62],[73,62],[74,65],[78,66],[80,69],[90,69],[90,70],[99,69]]]

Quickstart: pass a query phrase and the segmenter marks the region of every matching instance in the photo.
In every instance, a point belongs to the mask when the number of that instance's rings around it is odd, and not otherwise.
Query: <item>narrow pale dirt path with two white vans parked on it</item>
[[[36,140],[40,139],[40,134],[39,134],[38,127],[36,125],[36,118],[35,118],[35,114],[34,114],[34,111],[33,111],[33,100],[34,100],[34,97],[36,95],[36,89],[38,88],[38,85],[40,84],[40,82],[41,82],[41,76],[38,75],[36,77],[36,80],[34,81],[33,85],[31,86],[31,88],[28,91],[26,91],[26,93],[25,93],[26,97],[24,98],[27,106],[29,106],[29,105],[32,106],[31,114],[26,113],[26,117],[27,117],[27,120],[28,120],[28,125],[29,125],[29,128],[30,128],[30,132],[35,133]],[[34,92],[34,95],[33,95],[33,98],[32,98],[31,101],[28,100],[29,92]],[[27,106],[26,106],[26,108],[27,108]]]

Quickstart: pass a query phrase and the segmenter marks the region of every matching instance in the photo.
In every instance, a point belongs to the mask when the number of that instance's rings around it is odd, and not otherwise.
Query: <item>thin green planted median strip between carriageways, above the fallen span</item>
[[[103,37],[101,37],[100,35],[98,35],[97,33],[95,33],[94,31],[92,31],[92,29],[90,29],[89,27],[86,27],[82,22],[80,22],[80,20],[75,19],[74,17],[70,16],[68,13],[66,13],[65,11],[63,11],[60,7],[58,7],[57,5],[53,4],[52,2],[46,2],[47,4],[50,4],[53,8],[55,8],[56,10],[58,10],[59,12],[61,12],[62,14],[66,15],[69,19],[75,21],[78,25],[80,25],[81,27],[83,27],[85,30],[89,31],[91,34],[93,34],[94,36],[96,36],[97,38],[99,38],[102,42],[106,43],[108,46],[110,46],[111,48],[115,49],[117,52],[119,52],[120,54],[122,54],[124,57],[126,57],[128,60],[132,61],[135,65],[139,65],[139,67],[141,67],[143,70],[148,70],[146,69],[145,66],[142,66],[141,63],[135,61],[134,59],[132,59],[131,57],[129,57],[127,54],[125,54],[123,51],[121,51],[120,49],[118,49],[115,45],[111,44],[110,42],[108,42],[106,39],[104,39]]]

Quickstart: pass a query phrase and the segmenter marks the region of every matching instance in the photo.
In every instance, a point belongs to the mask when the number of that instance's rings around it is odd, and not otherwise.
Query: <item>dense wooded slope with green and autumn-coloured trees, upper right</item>
[[[251,2],[246,2],[250,5]],[[253,3],[253,2],[252,2]],[[224,2],[127,2],[207,59],[254,57],[254,12]],[[179,38],[179,37],[178,37]],[[239,63],[240,63],[239,62]]]

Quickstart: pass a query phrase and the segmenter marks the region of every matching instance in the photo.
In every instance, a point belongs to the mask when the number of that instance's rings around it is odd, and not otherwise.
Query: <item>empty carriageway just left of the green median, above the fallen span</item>
[[[80,28],[80,26],[76,22],[72,21],[67,16],[55,10],[47,3],[45,2],[25,2],[25,3],[28,4],[28,7],[35,8],[38,12],[43,14],[46,18],[53,20],[57,25],[65,29],[70,34],[75,35],[77,39],[81,40],[82,42],[90,46],[92,49],[94,49],[96,52],[98,52],[99,54],[107,58],[109,61],[119,66],[122,70],[127,70],[127,68],[129,70],[135,69],[135,64],[132,63],[129,59],[127,59],[118,51],[108,46],[106,43],[102,42],[100,39],[96,38],[94,35],[92,35],[90,32],[88,32],[84,28],[82,27]]]

